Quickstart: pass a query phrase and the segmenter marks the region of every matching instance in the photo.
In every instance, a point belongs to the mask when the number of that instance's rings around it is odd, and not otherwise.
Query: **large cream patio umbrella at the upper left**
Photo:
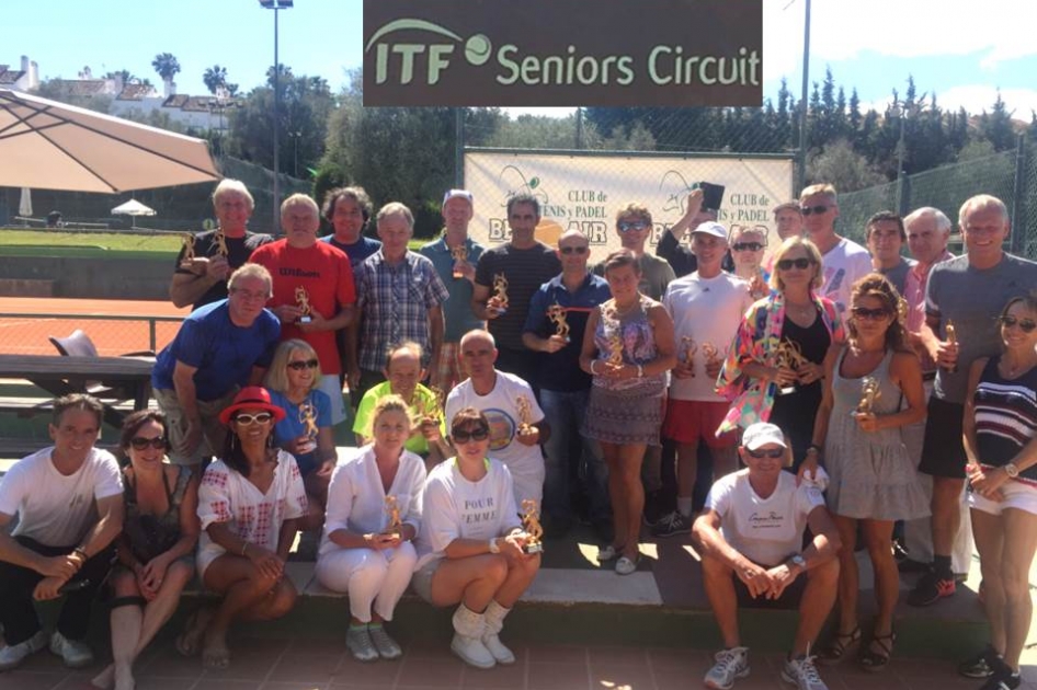
[[[203,139],[0,89],[0,187],[114,194],[212,182]]]

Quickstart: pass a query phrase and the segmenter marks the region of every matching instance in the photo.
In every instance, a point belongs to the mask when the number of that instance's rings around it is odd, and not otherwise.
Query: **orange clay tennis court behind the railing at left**
[[[190,309],[178,309],[169,301],[0,297],[0,353],[57,356],[47,336],[62,337],[76,329],[90,336],[101,355],[145,350],[151,347],[148,319],[175,319],[155,323],[157,352],[173,338],[180,320],[189,313]]]

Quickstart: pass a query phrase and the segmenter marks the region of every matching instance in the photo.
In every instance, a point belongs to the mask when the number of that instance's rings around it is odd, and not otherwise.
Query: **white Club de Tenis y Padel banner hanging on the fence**
[[[629,202],[647,206],[654,246],[684,215],[687,195],[698,182],[726,187],[718,215],[732,226],[771,225],[771,209],[791,197],[790,158],[685,158],[645,156],[572,156],[550,152],[466,151],[465,187],[475,197],[471,237],[495,246],[511,240],[508,199],[533,194],[540,203],[536,237],[555,245],[563,231],[583,232],[594,258],[617,250],[616,210]],[[777,244],[777,235],[771,239]],[[597,248],[602,248],[599,251]]]

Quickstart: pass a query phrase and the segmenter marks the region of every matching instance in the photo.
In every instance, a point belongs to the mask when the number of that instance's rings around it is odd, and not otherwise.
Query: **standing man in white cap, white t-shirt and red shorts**
[[[692,529],[692,493],[700,442],[709,448],[714,476],[732,472],[738,465],[734,433],[716,435],[729,403],[715,389],[720,365],[753,300],[749,283],[720,267],[727,238],[727,228],[718,222],[694,228],[692,252],[698,269],[670,283],[662,300],[673,318],[677,353],[662,425],[662,435],[676,441],[677,509],[652,526],[656,537]]]

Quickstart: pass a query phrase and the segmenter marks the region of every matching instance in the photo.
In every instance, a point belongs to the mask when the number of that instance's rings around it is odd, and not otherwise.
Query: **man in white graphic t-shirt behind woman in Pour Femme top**
[[[465,407],[482,412],[490,421],[489,455],[511,471],[515,505],[532,498],[539,506],[545,473],[539,444],[547,440],[550,429],[533,389],[517,376],[497,370],[497,345],[488,331],[461,336],[460,360],[468,378],[446,399],[447,425]]]

